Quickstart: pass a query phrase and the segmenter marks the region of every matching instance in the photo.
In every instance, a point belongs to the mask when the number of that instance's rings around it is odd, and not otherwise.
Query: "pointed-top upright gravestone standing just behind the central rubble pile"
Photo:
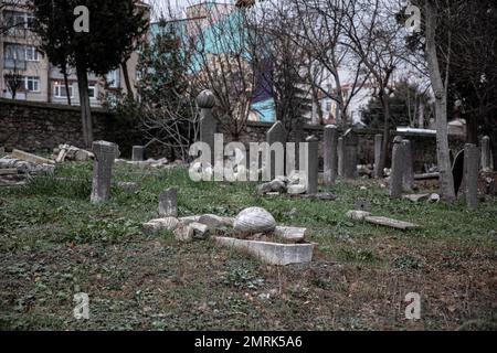
[[[267,161],[271,165],[269,175],[271,180],[274,180],[285,173],[286,130],[282,121],[276,121],[266,132],[266,142],[269,145],[267,151]]]

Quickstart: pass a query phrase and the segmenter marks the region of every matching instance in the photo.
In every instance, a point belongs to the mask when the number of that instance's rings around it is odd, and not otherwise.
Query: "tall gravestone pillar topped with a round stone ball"
[[[209,89],[202,90],[197,97],[197,105],[200,108],[200,142],[211,148],[211,167],[214,167],[214,133],[218,129],[218,122],[212,115],[212,108],[215,106],[214,94]]]

